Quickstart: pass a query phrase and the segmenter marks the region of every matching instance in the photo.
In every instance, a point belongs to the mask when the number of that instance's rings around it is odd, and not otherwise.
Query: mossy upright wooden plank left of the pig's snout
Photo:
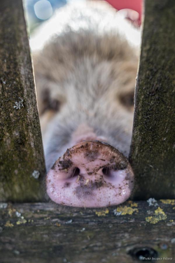
[[[0,200],[39,201],[45,173],[22,0],[0,1]]]

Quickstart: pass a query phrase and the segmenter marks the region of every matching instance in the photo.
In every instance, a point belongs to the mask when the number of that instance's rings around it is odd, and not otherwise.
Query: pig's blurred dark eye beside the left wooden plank
[[[51,98],[49,90],[43,91],[42,103],[43,103],[42,113],[44,113],[46,110],[58,111],[60,108],[60,102],[56,98]]]

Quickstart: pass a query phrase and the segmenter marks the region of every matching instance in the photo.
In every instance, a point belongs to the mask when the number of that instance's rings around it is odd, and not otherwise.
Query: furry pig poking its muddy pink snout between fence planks
[[[103,1],[60,8],[31,38],[46,191],[55,203],[107,207],[129,198],[139,38]]]

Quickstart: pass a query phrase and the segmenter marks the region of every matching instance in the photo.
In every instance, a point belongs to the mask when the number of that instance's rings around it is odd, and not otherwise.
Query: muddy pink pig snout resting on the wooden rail
[[[120,204],[129,198],[133,184],[128,160],[101,141],[83,141],[67,149],[46,178],[51,200],[75,207]]]

